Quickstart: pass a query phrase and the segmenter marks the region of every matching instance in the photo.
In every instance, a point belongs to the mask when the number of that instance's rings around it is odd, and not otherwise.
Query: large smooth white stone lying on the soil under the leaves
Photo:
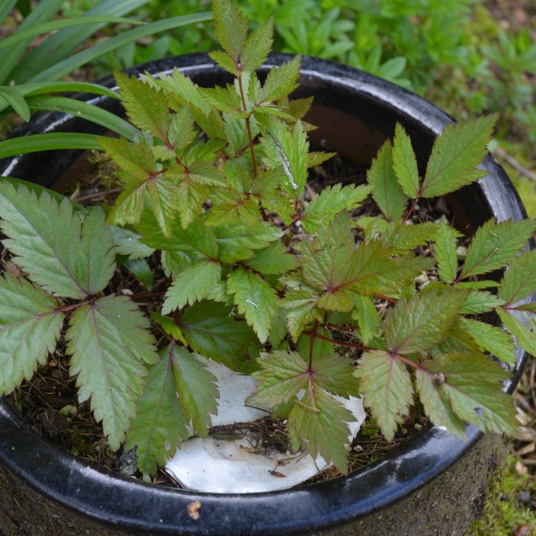
[[[242,376],[222,364],[207,360],[207,367],[218,379],[220,398],[214,426],[252,423],[268,414],[244,406],[244,399],[254,391],[255,380]],[[349,423],[348,444],[364,421],[361,398],[337,397],[356,418]],[[257,434],[251,425],[236,426],[241,436],[193,437],[183,442],[166,470],[188,490],[212,493],[253,493],[284,490],[308,480],[328,466],[320,456],[313,460],[303,452],[280,452],[276,447],[257,449]]]

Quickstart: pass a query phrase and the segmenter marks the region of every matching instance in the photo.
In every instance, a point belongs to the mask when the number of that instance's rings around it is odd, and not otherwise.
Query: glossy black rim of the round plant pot
[[[280,65],[289,57],[292,56],[271,54],[262,69]],[[142,64],[127,72],[168,74],[173,66],[184,74],[208,73],[214,69],[214,62],[204,53],[185,54]],[[367,94],[383,106],[402,111],[433,134],[439,134],[452,121],[420,96],[349,66],[304,56],[302,76]],[[111,78],[104,83],[114,86]],[[87,100],[100,103],[106,99],[93,96]],[[43,115],[65,120],[63,114],[56,112]],[[9,174],[21,158],[9,159],[9,164],[0,162],[1,174]],[[517,192],[495,159],[488,155],[483,165],[490,176],[478,182],[477,187],[497,219],[526,217]],[[505,384],[507,392],[515,389],[526,359],[525,352],[517,349],[514,376]],[[172,490],[95,468],[39,437],[2,400],[0,422],[0,462],[29,485],[64,507],[109,527],[131,533],[151,531],[155,535],[269,536],[312,533],[342,525],[417,491],[447,470],[482,437],[482,432],[471,426],[467,427],[466,442],[437,427],[427,427],[394,452],[348,477],[279,492],[230,495]],[[196,500],[201,504],[199,520],[193,520],[187,511],[188,505]]]

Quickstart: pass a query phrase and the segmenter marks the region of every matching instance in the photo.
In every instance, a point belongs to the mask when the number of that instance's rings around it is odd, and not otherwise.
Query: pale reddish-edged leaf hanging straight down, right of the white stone
[[[394,354],[373,350],[363,354],[354,374],[359,379],[364,405],[370,408],[383,435],[391,441],[397,426],[410,413],[413,402],[410,373]]]

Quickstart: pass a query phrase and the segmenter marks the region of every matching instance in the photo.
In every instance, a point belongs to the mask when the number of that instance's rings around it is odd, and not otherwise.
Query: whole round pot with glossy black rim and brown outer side
[[[268,64],[287,56],[274,54]],[[167,73],[174,66],[203,86],[227,80],[205,54],[145,64],[138,71]],[[314,95],[307,119],[319,126],[314,142],[369,165],[399,121],[424,167],[432,142],[451,121],[445,112],[398,86],[347,66],[304,58],[299,96]],[[108,81],[111,84],[111,81]],[[111,99],[93,99],[120,112]],[[101,129],[78,118],[40,114],[22,134]],[[46,186],[78,157],[76,152],[30,154],[0,162],[0,172]],[[478,227],[490,217],[526,216],[504,170],[488,156],[489,177],[452,199],[456,221]],[[526,356],[517,352],[519,379]],[[38,437],[0,402],[0,533],[14,535],[452,535],[482,512],[490,478],[505,453],[496,435],[470,427],[466,442],[428,427],[379,462],[346,478],[283,492],[211,495],[171,490],[91,467]],[[202,470],[202,468],[200,468]],[[199,501],[199,519],[189,516]]]

